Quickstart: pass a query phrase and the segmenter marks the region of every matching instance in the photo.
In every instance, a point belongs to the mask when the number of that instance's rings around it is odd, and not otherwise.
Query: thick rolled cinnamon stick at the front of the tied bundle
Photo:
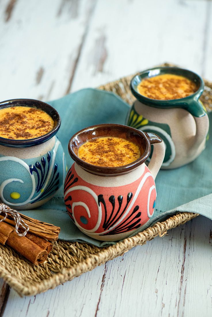
[[[47,259],[47,251],[26,237],[19,236],[14,227],[0,222],[0,233],[7,237],[4,243],[19,252],[34,264],[42,264]],[[3,243],[3,244],[4,244]]]

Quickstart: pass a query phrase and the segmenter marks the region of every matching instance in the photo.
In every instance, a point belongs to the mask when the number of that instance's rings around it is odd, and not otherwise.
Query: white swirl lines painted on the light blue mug
[[[53,154],[52,154],[52,161],[51,161],[51,165],[50,165],[50,169],[49,169],[49,173],[48,173],[48,176],[47,176],[47,179],[46,179],[46,182],[43,186],[43,191],[45,190],[46,186],[48,185],[49,183],[49,180],[50,180],[50,177],[51,177],[51,173],[52,173],[52,170],[54,168],[54,163],[55,163],[55,157],[56,157],[56,153],[57,153],[57,149],[58,149],[58,146],[60,145],[60,141],[59,140],[56,140],[55,142],[55,146],[54,146],[54,149],[53,149]],[[22,165],[26,171],[29,173],[30,175],[30,178],[31,178],[31,181],[32,181],[32,191],[31,191],[31,194],[30,196],[24,201],[24,202],[20,202],[20,203],[11,203],[9,201],[7,201],[4,197],[3,197],[3,190],[5,188],[5,186],[7,184],[10,184],[12,182],[19,182],[19,183],[24,183],[22,179],[18,179],[18,178],[9,178],[5,181],[2,182],[2,184],[0,185],[0,198],[1,200],[5,203],[5,204],[9,204],[10,206],[23,206],[23,205],[26,205],[26,204],[29,204],[29,203],[32,203],[34,200],[36,200],[37,198],[39,198],[39,196],[42,194],[42,192],[40,192],[36,197],[34,197],[32,199],[32,197],[34,196],[35,194],[35,190],[36,190],[36,180],[35,180],[35,176],[33,174],[31,174],[30,172],[30,167],[29,165],[27,165],[22,159],[18,159],[17,157],[15,156],[3,156],[3,157],[0,157],[0,162],[2,161],[13,161],[13,162],[16,162],[20,165]],[[63,155],[63,165],[64,165],[64,155]],[[63,169],[63,173],[64,173],[64,169]]]

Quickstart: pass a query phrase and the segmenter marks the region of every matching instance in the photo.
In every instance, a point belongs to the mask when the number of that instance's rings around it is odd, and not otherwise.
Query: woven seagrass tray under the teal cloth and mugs
[[[164,64],[164,66],[172,65]],[[99,88],[112,91],[131,104],[134,97],[129,90],[129,82],[133,76],[121,78]],[[212,83],[205,81],[205,85],[206,88],[201,100],[208,109],[212,109]],[[54,248],[46,262],[37,266],[10,247],[0,245],[0,277],[21,296],[36,295],[50,288],[55,288],[65,281],[70,281],[108,260],[122,256],[124,252],[136,245],[145,244],[156,236],[162,237],[167,230],[184,224],[197,216],[198,214],[194,213],[178,213],[166,221],[156,223],[153,227],[147,228],[136,236],[104,248],[87,243],[58,240],[54,243]]]

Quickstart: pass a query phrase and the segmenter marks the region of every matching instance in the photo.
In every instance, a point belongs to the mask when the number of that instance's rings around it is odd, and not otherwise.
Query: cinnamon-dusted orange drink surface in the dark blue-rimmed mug
[[[43,110],[32,107],[0,109],[0,137],[6,139],[33,139],[50,132],[54,121]]]

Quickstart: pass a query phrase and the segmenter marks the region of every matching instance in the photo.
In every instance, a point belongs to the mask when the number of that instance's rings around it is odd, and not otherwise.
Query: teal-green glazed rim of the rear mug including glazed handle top
[[[150,99],[148,97],[145,97],[141,95],[138,92],[138,85],[144,78],[148,77],[155,77],[157,75],[162,74],[175,74],[179,76],[184,76],[191,81],[194,81],[197,85],[198,89],[195,91],[194,94],[191,94],[184,98],[179,99],[170,99],[170,100],[158,100],[158,99]],[[184,68],[177,68],[177,67],[156,67],[144,70],[140,74],[133,77],[133,79],[130,82],[130,89],[132,91],[132,94],[136,97],[137,100],[141,101],[145,105],[148,105],[150,107],[156,107],[156,108],[182,108],[187,110],[189,113],[191,113],[195,117],[203,117],[206,112],[204,108],[202,107],[201,101],[199,101],[200,96],[202,95],[204,91],[204,81],[202,78]]]

